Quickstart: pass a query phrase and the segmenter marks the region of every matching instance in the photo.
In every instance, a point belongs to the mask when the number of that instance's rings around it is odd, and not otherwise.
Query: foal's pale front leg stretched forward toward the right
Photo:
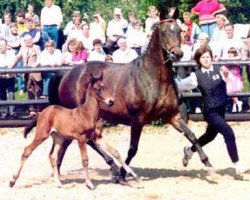
[[[134,171],[122,160],[119,152],[114,149],[113,147],[111,147],[103,138],[98,139],[96,141],[96,143],[103,148],[104,150],[106,150],[107,152],[109,152],[112,156],[114,156],[119,163],[123,166],[124,170],[130,174],[131,176],[134,177],[135,180],[139,181],[139,177],[134,173]]]

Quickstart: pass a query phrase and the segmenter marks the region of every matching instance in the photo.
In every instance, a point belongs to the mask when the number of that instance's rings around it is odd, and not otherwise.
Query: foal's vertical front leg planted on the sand
[[[78,139],[78,145],[79,145],[81,156],[82,156],[82,166],[83,166],[83,170],[84,170],[86,186],[89,189],[93,190],[93,189],[95,189],[95,187],[89,178],[89,169],[88,169],[89,159],[88,159],[88,154],[87,154],[86,141],[83,139]]]

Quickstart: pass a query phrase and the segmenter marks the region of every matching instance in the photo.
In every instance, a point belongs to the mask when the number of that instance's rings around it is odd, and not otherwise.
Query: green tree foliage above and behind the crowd
[[[55,0],[55,3],[62,8],[64,22],[69,21],[73,10],[80,10],[86,21],[90,21],[95,12],[100,12],[106,21],[110,20],[115,7],[122,8],[123,14],[127,17],[129,12],[135,12],[139,19],[144,21],[147,17],[147,8],[155,5],[161,12],[167,12],[168,8],[178,6],[180,13],[190,11],[199,0]],[[250,0],[220,0],[227,8],[227,16],[233,23],[249,23]],[[35,11],[40,14],[44,0],[1,0],[0,9],[2,16],[4,12],[25,11],[27,5],[35,5]]]

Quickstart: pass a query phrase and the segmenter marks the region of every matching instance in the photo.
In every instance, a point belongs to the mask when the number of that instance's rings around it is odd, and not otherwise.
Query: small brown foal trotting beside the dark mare
[[[104,151],[110,153],[121,163],[127,173],[131,174],[136,180],[139,180],[133,170],[121,159],[119,153],[104,141],[101,131],[98,133],[95,130],[97,120],[99,119],[99,103],[103,102],[108,106],[114,104],[112,96],[101,80],[102,76],[96,79],[90,75],[86,101],[81,106],[75,109],[67,109],[61,106],[52,105],[42,111],[38,116],[35,138],[30,145],[25,147],[19,169],[17,173],[13,175],[13,179],[10,181],[10,187],[15,185],[24,162],[30,154],[50,135],[53,138],[53,146],[49,154],[49,159],[57,187],[61,187],[62,183],[59,179],[56,160],[58,151],[66,138],[76,139],[78,141],[88,188],[94,189],[94,185],[88,174],[88,155],[86,149],[86,142],[88,140],[93,140]]]

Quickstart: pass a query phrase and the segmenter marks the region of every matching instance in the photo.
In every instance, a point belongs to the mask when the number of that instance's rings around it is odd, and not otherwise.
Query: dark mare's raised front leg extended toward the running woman
[[[184,136],[195,146],[201,161],[204,165],[212,170],[212,165],[208,160],[208,156],[205,154],[203,149],[201,148],[195,134],[188,128],[187,124],[183,119],[180,118],[179,115],[176,115],[172,120],[171,124],[180,132],[184,132]]]

